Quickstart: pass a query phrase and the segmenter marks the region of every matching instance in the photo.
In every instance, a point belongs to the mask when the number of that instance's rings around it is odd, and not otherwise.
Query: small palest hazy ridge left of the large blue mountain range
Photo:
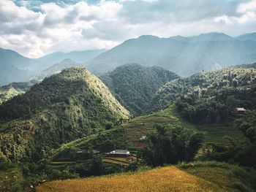
[[[69,53],[57,52],[42,56],[41,58],[37,58],[37,61],[42,61],[47,64],[56,64],[66,58],[69,58],[72,61],[83,64],[103,52],[105,52],[105,50],[81,50],[72,51]]]

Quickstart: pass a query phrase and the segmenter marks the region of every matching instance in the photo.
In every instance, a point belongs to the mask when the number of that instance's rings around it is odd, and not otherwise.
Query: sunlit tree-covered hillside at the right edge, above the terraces
[[[229,120],[236,114],[236,107],[254,110],[256,69],[253,66],[201,72],[167,82],[154,97],[153,108],[161,110],[177,101],[177,110],[184,118],[208,123]]]

